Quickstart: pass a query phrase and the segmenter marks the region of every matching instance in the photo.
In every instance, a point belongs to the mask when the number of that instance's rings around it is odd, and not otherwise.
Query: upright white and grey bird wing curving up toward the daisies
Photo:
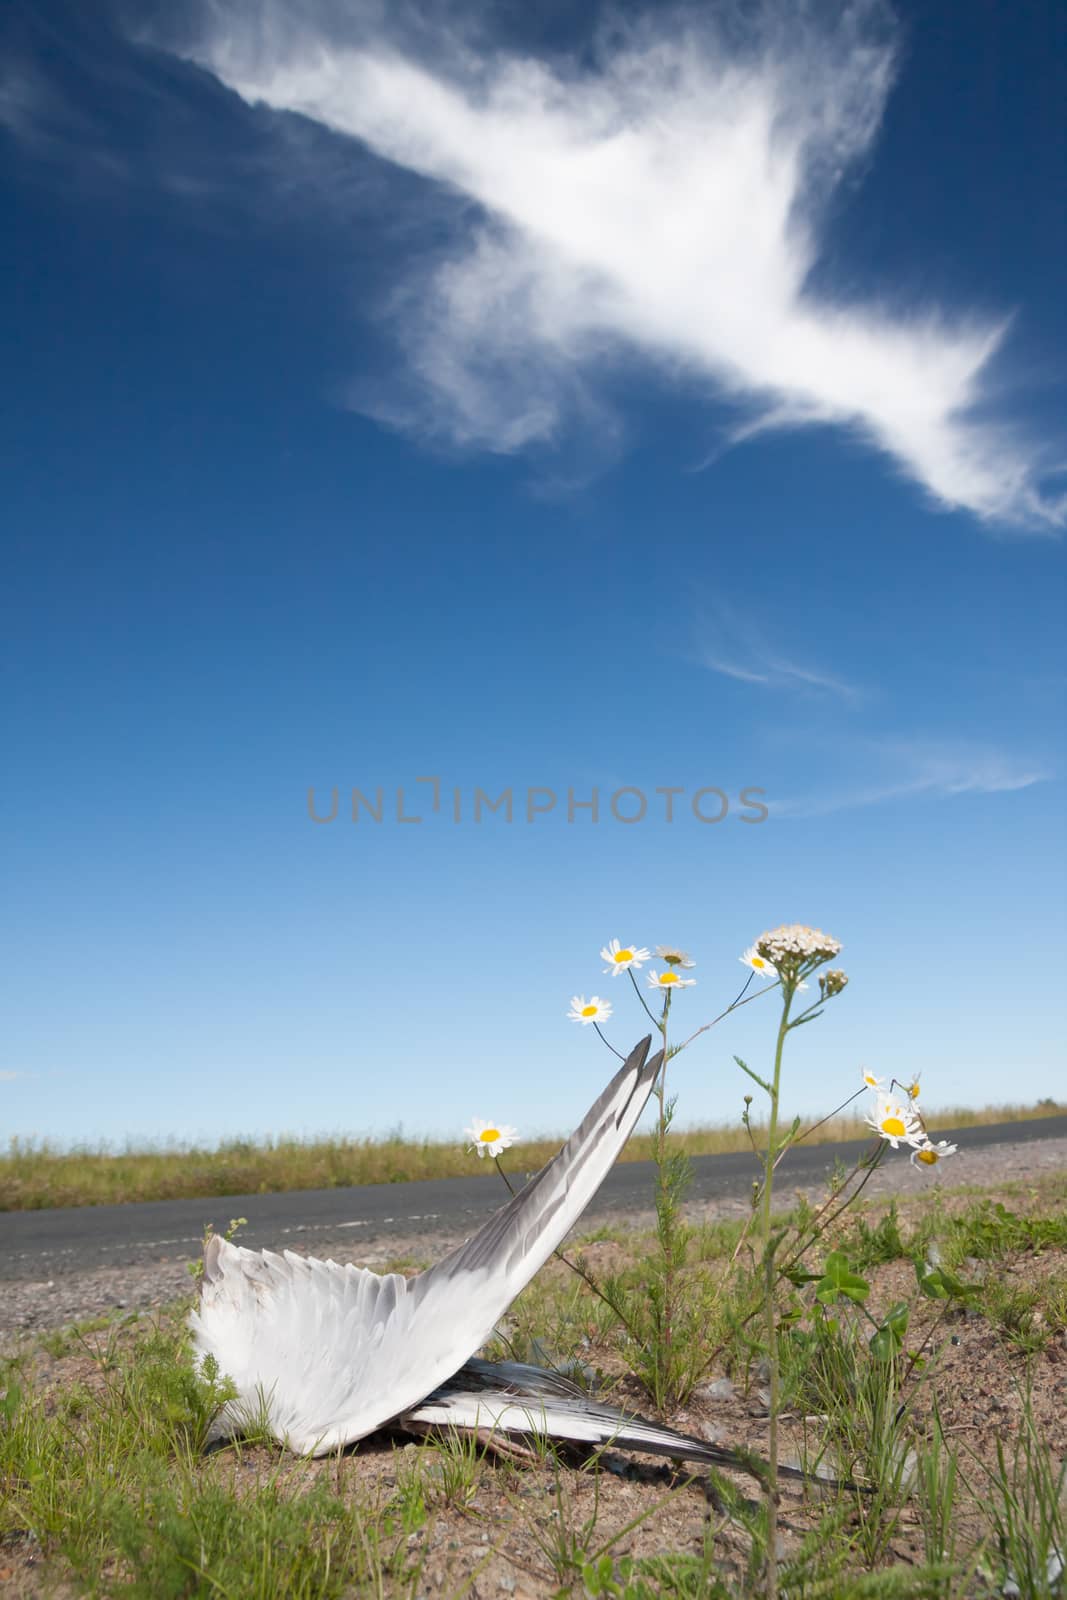
[[[630,1053],[560,1154],[485,1227],[416,1278],[275,1256],[211,1238],[200,1360],[237,1386],[224,1426],[250,1418],[302,1454],[352,1443],[462,1366],[585,1210],[630,1136],[662,1056]]]

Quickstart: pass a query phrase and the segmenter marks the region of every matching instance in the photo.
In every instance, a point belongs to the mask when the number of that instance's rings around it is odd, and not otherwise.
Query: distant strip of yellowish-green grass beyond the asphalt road
[[[1053,1117],[1067,1106],[1045,1099],[1037,1106],[990,1106],[982,1110],[949,1109],[929,1117],[931,1130],[971,1128],[979,1123],[1022,1122]],[[811,1118],[816,1120],[814,1117]],[[758,1139],[760,1130],[753,1126]],[[835,1117],[822,1123],[808,1142],[859,1139],[869,1128],[859,1117]],[[672,1131],[673,1147],[688,1155],[745,1150],[749,1136],[739,1125]],[[561,1144],[536,1139],[507,1152],[515,1173],[536,1171]],[[635,1138],[621,1160],[646,1160],[649,1141]],[[0,1211],[35,1211],[45,1206],[112,1205],[125,1200],[190,1200],[211,1195],[283,1194],[291,1189],[339,1189],[347,1184],[400,1184],[416,1178],[496,1176],[491,1162],[480,1162],[462,1142],[432,1139],[230,1139],[214,1149],[182,1147],[75,1147],[13,1139],[0,1155]]]

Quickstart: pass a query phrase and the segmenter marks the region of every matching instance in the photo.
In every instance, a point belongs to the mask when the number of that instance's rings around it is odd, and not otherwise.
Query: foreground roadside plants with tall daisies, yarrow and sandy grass
[[[649,950],[605,946],[601,970],[622,978],[613,997],[637,1003],[662,1043],[654,1128],[632,1141],[654,1163],[654,1227],[569,1242],[486,1350],[721,1443],[737,1469],[649,1466],[611,1448],[589,1458],[545,1440],[517,1450],[485,1434],[406,1445],[379,1434],[294,1459],[264,1395],[258,1432],[211,1451],[235,1390],[213,1360],[194,1363],[189,1307],[176,1306],[6,1358],[3,1592],[1064,1600],[1067,1174],[992,1194],[944,1187],[957,1146],[931,1136],[918,1077],[862,1070],[811,1126],[787,1120],[789,1042],[846,994],[848,974],[829,966],[840,949],[800,923],[761,934],[742,957],[744,987],[694,1027],[686,952],[661,946],[662,970],[638,984]],[[734,1058],[750,1206],[696,1222],[673,1059],[753,1002],[773,1026],[766,1059]],[[571,1019],[621,1056],[605,1032],[613,1014],[600,995],[571,1002]],[[857,1102],[849,1131],[865,1138],[851,1165],[787,1210],[784,1154],[840,1138]],[[553,1154],[520,1146],[506,1123],[467,1134],[507,1189],[501,1157],[518,1176]],[[880,1163],[907,1158],[921,1194],[873,1205]],[[322,1338],[341,1336],[323,1325]]]

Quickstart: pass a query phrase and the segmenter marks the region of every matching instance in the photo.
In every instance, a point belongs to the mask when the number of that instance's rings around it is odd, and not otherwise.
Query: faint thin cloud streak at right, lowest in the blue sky
[[[817,790],[774,802],[771,813],[829,816],[891,800],[1014,794],[1051,778],[1041,762],[950,739],[853,741],[851,754],[862,773],[838,773]]]

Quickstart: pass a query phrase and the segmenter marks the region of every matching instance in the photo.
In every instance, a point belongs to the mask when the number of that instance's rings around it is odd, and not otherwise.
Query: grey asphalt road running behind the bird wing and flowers
[[[968,1149],[1024,1144],[1067,1136],[1067,1117],[987,1128],[937,1130],[939,1139],[960,1138]],[[865,1142],[798,1146],[779,1173],[790,1184],[817,1184],[837,1160],[851,1162]],[[699,1155],[693,1162],[693,1200],[744,1198],[755,1162],[749,1154]],[[653,1205],[651,1162],[616,1165],[585,1211],[585,1221]],[[142,1266],[189,1259],[200,1251],[206,1222],[226,1229],[245,1216],[242,1245],[320,1253],[326,1242],[358,1237],[376,1245],[413,1234],[472,1232],[502,1200],[491,1178],[440,1178],[413,1184],[365,1184],[358,1189],[302,1189],[280,1195],[224,1195],[210,1200],[150,1200],[139,1205],[70,1206],[54,1211],[0,1213],[0,1280],[56,1278],[93,1267]]]

